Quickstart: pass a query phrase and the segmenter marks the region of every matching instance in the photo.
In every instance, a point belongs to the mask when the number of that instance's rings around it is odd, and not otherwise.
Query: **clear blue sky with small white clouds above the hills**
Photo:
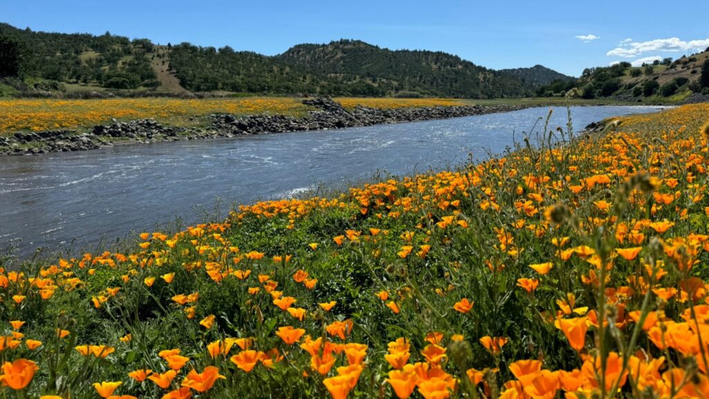
[[[495,69],[542,64],[575,76],[585,67],[703,50],[707,16],[707,0],[0,0],[0,21],[35,31],[110,31],[266,55],[352,38],[441,50]]]

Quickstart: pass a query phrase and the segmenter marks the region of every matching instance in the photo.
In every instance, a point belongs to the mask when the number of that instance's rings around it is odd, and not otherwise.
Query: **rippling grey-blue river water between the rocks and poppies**
[[[40,156],[0,156],[0,250],[77,251],[153,231],[180,217],[201,222],[233,204],[289,197],[319,184],[343,187],[374,174],[441,170],[499,154],[548,108],[330,131],[116,146]],[[579,131],[652,106],[576,106]],[[566,109],[549,126],[566,129]],[[537,130],[543,122],[537,123]],[[213,215],[213,213],[212,213]]]

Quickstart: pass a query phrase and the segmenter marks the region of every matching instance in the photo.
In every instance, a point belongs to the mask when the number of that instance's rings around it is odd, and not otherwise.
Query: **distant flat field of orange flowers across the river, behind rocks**
[[[121,121],[155,118],[165,124],[184,126],[196,123],[192,117],[214,113],[233,115],[284,114],[303,116],[308,106],[302,99],[250,97],[241,99],[0,99],[0,135],[16,131],[82,129]],[[337,99],[348,108],[460,105],[447,99]]]

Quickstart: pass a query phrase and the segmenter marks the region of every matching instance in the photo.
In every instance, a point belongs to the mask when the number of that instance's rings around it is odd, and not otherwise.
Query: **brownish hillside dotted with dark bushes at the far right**
[[[703,72],[703,70],[705,72]],[[608,67],[586,68],[574,82],[554,81],[537,89],[539,95],[574,89],[586,99],[616,97],[640,101],[686,102],[709,96],[709,48],[701,53],[665,58],[633,67],[619,62]]]

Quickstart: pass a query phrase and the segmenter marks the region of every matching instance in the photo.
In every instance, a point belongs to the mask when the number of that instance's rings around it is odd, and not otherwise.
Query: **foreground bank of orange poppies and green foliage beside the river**
[[[0,274],[9,398],[707,398],[709,104]]]

